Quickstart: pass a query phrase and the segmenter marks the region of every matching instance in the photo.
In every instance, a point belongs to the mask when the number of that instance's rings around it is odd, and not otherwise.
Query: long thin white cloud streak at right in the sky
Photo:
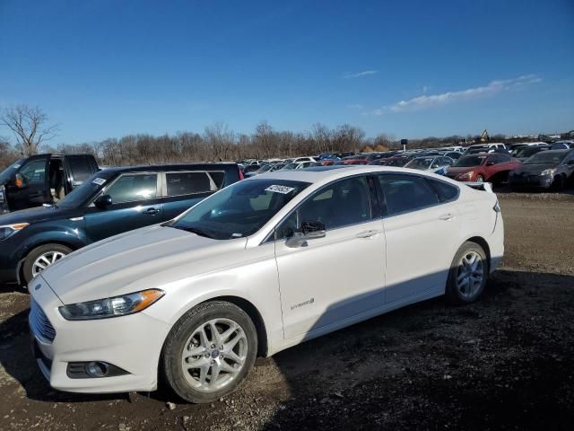
[[[490,84],[482,87],[467,88],[466,90],[459,90],[457,92],[443,92],[441,94],[431,94],[429,96],[422,95],[409,99],[408,101],[397,101],[396,103],[363,112],[364,115],[384,115],[387,112],[405,112],[413,110],[424,110],[441,106],[454,101],[467,101],[477,99],[484,96],[491,96],[500,92],[507,92],[515,90],[527,85],[540,83],[542,78],[536,75],[522,75],[514,79],[504,79],[491,81]]]

